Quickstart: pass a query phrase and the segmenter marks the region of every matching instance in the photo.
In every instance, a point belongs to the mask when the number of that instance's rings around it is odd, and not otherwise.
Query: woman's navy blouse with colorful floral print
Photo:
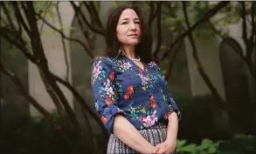
[[[94,104],[109,133],[113,133],[114,117],[118,114],[137,130],[167,120],[172,111],[176,111],[180,120],[180,110],[159,67],[153,61],[143,66],[144,70],[124,55],[94,60],[91,79]]]

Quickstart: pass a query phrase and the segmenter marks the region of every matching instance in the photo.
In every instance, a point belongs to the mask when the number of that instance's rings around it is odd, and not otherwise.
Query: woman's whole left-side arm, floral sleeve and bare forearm
[[[114,133],[124,144],[135,151],[156,153],[156,147],[142,137],[125,117],[121,116],[125,113],[117,107],[118,89],[114,83],[114,70],[104,57],[98,57],[93,63],[91,84],[95,108],[107,131]]]

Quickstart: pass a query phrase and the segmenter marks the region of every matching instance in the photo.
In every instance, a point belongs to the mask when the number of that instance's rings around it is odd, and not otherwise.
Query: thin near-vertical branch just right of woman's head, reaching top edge
[[[157,54],[160,52],[160,47],[162,44],[162,29],[161,29],[161,10],[162,2],[159,1],[156,3],[156,13],[157,13],[157,45],[156,50],[154,51],[153,56],[157,59]]]

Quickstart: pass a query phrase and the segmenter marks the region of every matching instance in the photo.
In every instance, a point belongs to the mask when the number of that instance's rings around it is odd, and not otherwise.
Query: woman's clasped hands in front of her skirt
[[[156,147],[158,149],[158,151],[156,151],[156,154],[172,154],[175,151],[176,142],[165,141],[161,144],[157,144]]]

